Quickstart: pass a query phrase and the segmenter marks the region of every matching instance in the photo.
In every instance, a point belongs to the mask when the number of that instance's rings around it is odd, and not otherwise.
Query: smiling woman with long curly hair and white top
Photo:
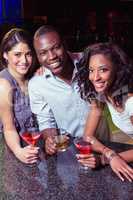
[[[102,107],[107,104],[114,124],[127,135],[133,135],[133,64],[115,44],[98,43],[85,49],[79,66],[81,96],[90,101],[92,112],[88,117],[85,134],[93,150],[101,153],[101,163],[110,164],[112,170],[124,181],[133,180],[133,150],[116,153],[94,137]],[[90,160],[81,155],[80,162]]]

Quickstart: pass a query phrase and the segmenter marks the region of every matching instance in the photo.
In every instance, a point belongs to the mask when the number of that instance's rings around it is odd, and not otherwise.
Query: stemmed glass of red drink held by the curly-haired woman
[[[84,154],[84,155],[91,154],[91,152],[92,152],[91,144],[89,142],[85,141],[82,137],[75,138],[74,144],[80,154]],[[83,170],[89,169],[88,166],[83,165],[83,164],[79,164],[79,168],[83,169]]]

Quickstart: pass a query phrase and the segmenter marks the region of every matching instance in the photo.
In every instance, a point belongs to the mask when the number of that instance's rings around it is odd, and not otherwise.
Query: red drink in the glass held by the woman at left
[[[25,142],[27,142],[29,145],[32,144],[33,146],[36,145],[38,139],[40,138],[41,134],[39,132],[25,132],[21,134],[21,137]]]

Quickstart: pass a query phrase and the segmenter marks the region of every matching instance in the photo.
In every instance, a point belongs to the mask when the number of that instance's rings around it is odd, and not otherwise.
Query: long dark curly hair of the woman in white
[[[123,98],[128,93],[133,93],[133,63],[120,47],[112,43],[97,43],[85,49],[84,56],[78,64],[78,81],[81,96],[84,99],[99,97],[89,80],[88,70],[90,57],[96,54],[105,55],[112,62],[113,80],[111,80],[106,95],[111,94],[114,102],[122,106]]]

